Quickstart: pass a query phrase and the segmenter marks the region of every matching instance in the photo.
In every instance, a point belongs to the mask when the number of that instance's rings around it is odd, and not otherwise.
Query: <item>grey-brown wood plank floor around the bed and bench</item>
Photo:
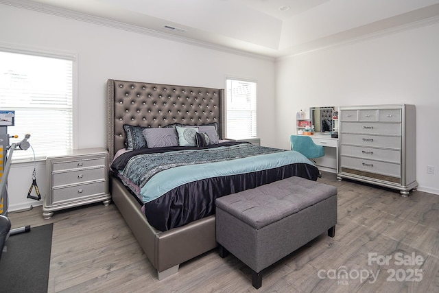
[[[114,204],[10,213],[12,226],[54,223],[49,292],[439,292],[439,196],[337,182],[335,237],[320,235],[263,270],[262,287],[233,255],[212,250],[156,279]],[[36,252],[38,253],[38,252]],[[387,261],[386,261],[387,259]]]

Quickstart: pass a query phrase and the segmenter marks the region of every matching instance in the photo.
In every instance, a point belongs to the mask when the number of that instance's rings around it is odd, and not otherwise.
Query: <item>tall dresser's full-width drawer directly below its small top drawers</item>
[[[399,123],[344,122],[340,132],[364,134],[401,135]]]

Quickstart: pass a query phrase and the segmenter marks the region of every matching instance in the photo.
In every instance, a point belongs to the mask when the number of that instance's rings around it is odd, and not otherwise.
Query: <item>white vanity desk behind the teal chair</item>
[[[337,158],[338,158],[338,139],[333,139],[331,134],[316,132],[311,135],[311,139],[316,145],[323,145],[324,156],[313,159],[316,165],[323,171],[337,173]]]

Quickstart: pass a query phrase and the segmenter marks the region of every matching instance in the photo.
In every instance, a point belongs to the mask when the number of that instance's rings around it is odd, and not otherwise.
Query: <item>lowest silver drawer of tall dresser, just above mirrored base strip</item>
[[[342,166],[342,169],[346,167],[350,169],[357,169],[365,172],[383,174],[387,176],[401,176],[401,165],[396,163],[384,163],[367,159],[341,156],[340,164]]]

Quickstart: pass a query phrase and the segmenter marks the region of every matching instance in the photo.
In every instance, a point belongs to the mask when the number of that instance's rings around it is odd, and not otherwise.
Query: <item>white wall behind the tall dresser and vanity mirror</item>
[[[289,147],[300,109],[414,104],[416,166],[410,167],[416,167],[419,190],[439,194],[438,36],[436,23],[278,60],[277,146]],[[436,168],[434,175],[427,165]]]

